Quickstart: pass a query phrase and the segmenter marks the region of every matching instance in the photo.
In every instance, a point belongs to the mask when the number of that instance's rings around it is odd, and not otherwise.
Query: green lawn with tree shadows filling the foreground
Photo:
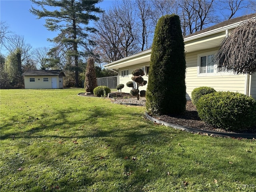
[[[256,141],[194,135],[82,89],[0,90],[0,191],[254,191]]]

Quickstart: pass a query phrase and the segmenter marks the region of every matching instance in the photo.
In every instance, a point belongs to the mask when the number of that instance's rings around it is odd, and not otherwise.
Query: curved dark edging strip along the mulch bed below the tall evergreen
[[[214,134],[214,136],[222,136],[222,137],[234,137],[234,138],[246,138],[246,139],[253,139],[256,138],[256,134],[246,134],[246,133],[224,133],[224,132],[215,132],[215,131],[204,131],[201,129],[194,129],[194,128],[189,128],[189,127],[184,127],[184,126],[179,126],[171,123],[167,123],[161,120],[157,120],[156,118],[150,116],[149,114],[145,114],[146,118],[151,120],[152,122],[162,124],[164,126],[172,127],[178,130],[183,130],[187,132],[199,132],[199,133],[207,133],[209,135]]]

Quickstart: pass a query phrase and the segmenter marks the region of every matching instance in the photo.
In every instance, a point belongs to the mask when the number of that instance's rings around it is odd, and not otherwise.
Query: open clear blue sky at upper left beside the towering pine
[[[113,2],[104,0],[98,6],[106,10]],[[31,44],[32,48],[50,47],[51,43],[47,38],[56,37],[58,32],[48,31],[44,27],[45,19],[37,19],[29,12],[31,6],[30,0],[0,0],[0,20],[8,24],[11,32],[24,36],[26,43]],[[1,53],[7,52],[2,48]]]

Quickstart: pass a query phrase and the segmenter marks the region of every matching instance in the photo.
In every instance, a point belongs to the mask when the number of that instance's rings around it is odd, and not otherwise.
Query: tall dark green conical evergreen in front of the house
[[[162,16],[152,44],[146,108],[149,114],[181,114],[186,109],[186,60],[177,15]]]

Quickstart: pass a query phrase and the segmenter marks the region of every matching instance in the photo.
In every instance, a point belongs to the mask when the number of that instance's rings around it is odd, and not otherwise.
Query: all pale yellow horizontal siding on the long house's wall
[[[186,54],[186,98],[188,100],[191,99],[191,92],[194,88],[200,86],[209,86],[214,88],[216,91],[233,91],[245,93],[245,75],[235,75],[235,74],[214,74],[212,76],[198,76],[198,54],[212,52],[215,49],[203,50],[198,52],[192,52]],[[126,86],[128,81],[132,81],[132,71],[136,68],[142,68],[143,66],[149,66],[149,62],[144,64],[138,64],[134,66],[130,66],[129,68],[120,68],[119,69],[119,83],[124,84],[123,92],[129,93],[131,88]],[[121,77],[120,72],[122,70],[128,70],[128,77]],[[144,80],[148,81],[148,76],[143,76]],[[254,87],[254,91],[253,91]],[[146,90],[146,86],[142,86],[140,90]],[[252,78],[252,94],[256,97],[256,75]]]

